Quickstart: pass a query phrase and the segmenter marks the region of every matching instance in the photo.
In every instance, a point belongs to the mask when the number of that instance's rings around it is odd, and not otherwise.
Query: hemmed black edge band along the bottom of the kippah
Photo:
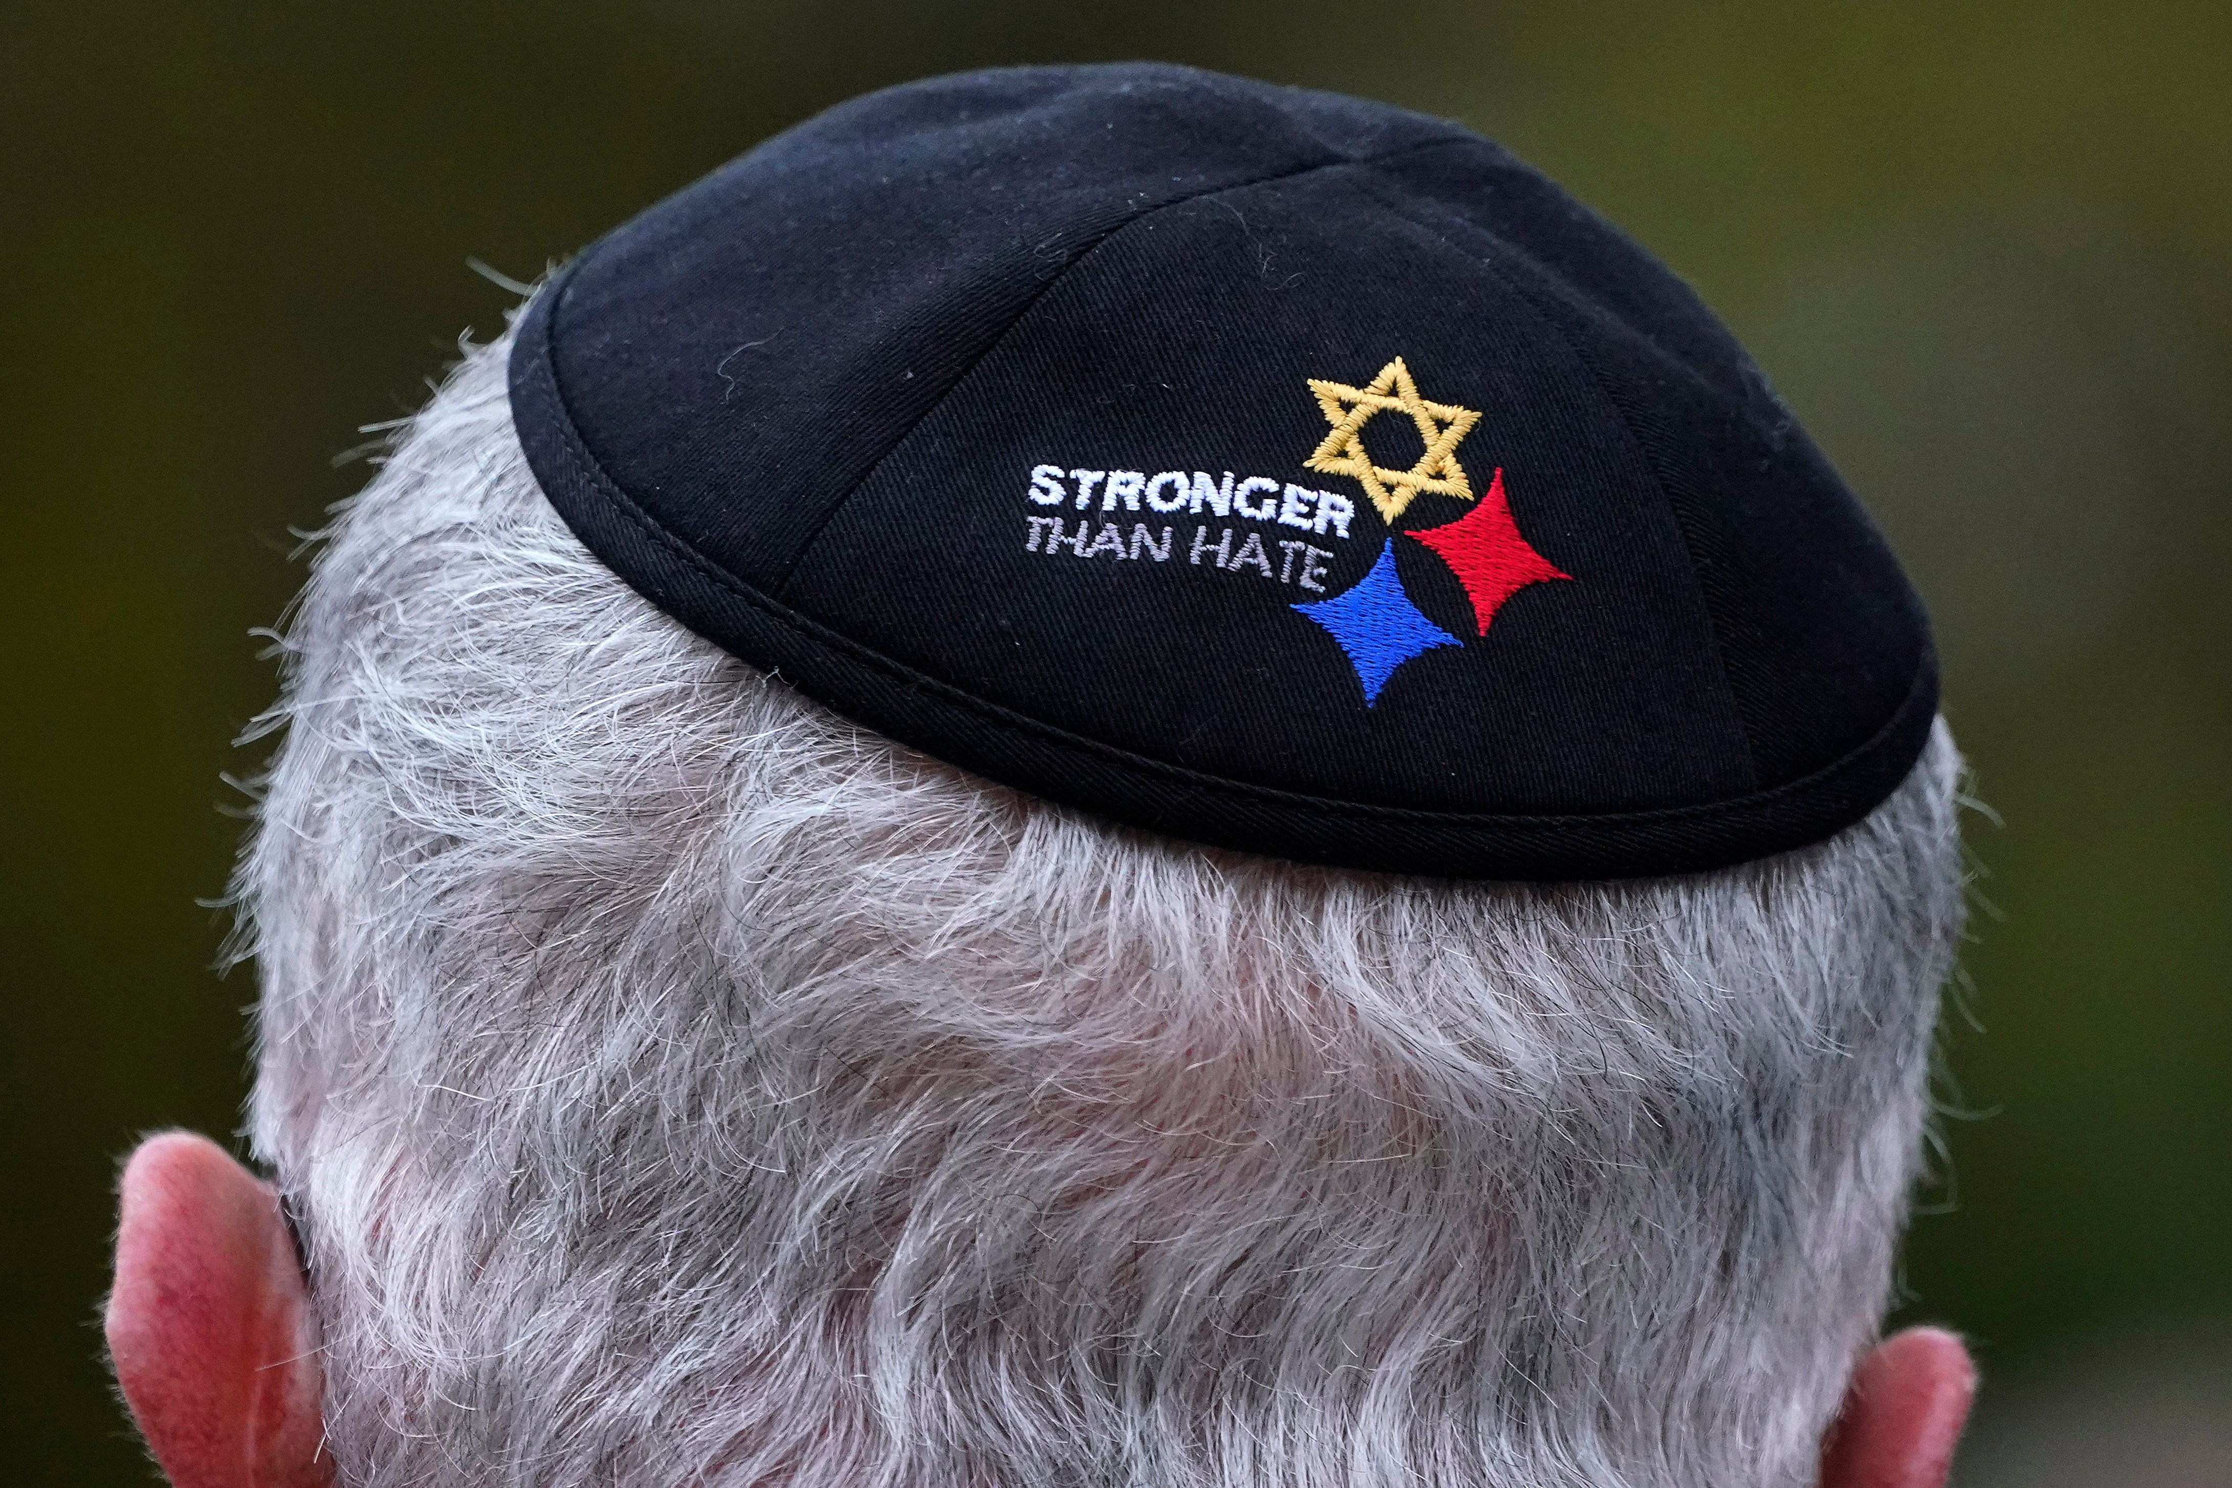
[[[1234,852],[1455,879],[1571,881],[1707,872],[1832,837],[1906,779],[1937,714],[1937,658],[1859,745],[1745,796],[1625,812],[1433,812],[1250,785],[1071,734],[902,665],[728,573],[596,462],[551,359],[558,274],[520,317],[513,422],[542,493],[652,605],[817,703],[933,759],[1096,817]],[[612,560],[625,549],[627,567]],[[710,584],[710,587],[708,587]]]

